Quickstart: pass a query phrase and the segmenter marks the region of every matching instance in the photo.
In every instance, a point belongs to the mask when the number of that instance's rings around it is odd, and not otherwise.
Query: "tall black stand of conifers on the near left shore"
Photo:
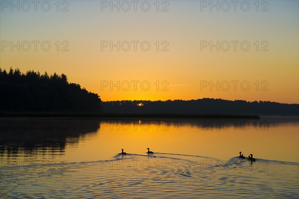
[[[0,68],[0,111],[101,112],[101,99],[64,74]]]

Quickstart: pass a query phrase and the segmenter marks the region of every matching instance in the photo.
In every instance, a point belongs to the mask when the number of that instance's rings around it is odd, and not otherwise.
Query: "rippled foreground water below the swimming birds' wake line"
[[[299,165],[128,154],[61,170],[2,169],[1,198],[298,198]],[[223,163],[223,164],[222,164]]]

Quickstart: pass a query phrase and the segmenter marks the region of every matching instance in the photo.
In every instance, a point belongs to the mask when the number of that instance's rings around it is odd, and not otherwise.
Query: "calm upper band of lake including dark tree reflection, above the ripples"
[[[14,123],[19,126],[15,127]],[[242,151],[244,156],[252,153],[259,159],[299,163],[298,117],[261,120],[12,118],[2,119],[1,126],[1,159],[8,160],[110,160],[122,148],[127,153],[145,155],[149,147],[153,152],[220,160],[239,156]]]

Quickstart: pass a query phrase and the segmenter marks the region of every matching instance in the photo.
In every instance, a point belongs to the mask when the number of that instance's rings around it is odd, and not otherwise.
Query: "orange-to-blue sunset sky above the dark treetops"
[[[213,1],[219,11],[200,0],[138,1],[136,11],[130,0],[113,1],[120,11],[110,7],[112,1],[59,1],[58,7],[41,0],[36,11],[31,1],[22,2],[0,0],[2,69],[64,73],[104,101],[299,103],[298,0]],[[111,51],[110,41],[120,41],[119,51]],[[119,91],[110,87],[118,82]]]

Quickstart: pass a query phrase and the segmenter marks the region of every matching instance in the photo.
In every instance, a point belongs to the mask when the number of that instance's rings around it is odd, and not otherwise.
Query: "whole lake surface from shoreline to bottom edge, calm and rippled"
[[[0,118],[0,158],[0,198],[298,199],[299,117]]]

